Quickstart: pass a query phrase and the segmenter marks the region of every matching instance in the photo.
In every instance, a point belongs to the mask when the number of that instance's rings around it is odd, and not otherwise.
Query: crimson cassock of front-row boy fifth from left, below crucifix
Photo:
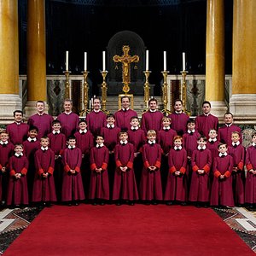
[[[114,148],[116,169],[113,181],[113,200],[138,200],[137,183],[133,170],[134,149],[131,143],[117,144]],[[122,172],[119,166],[127,166]]]

